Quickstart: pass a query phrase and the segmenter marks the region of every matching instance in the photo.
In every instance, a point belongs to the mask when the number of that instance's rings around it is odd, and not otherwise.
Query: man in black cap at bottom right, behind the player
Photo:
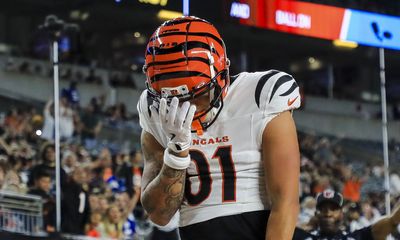
[[[317,228],[311,232],[296,228],[294,240],[384,240],[400,223],[400,207],[368,227],[352,233],[342,230],[343,196],[327,189],[317,196]]]

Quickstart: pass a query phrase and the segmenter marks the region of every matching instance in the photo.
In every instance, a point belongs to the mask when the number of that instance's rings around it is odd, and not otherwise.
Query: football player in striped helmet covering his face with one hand
[[[299,88],[277,70],[229,75],[224,41],[206,20],[180,17],[150,38],[138,103],[142,204],[182,239],[292,239]]]

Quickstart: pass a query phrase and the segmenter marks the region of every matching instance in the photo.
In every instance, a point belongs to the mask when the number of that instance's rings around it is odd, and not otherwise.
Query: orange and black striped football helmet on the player
[[[218,116],[229,86],[229,60],[224,41],[208,21],[183,16],[164,22],[145,52],[148,95],[178,97],[180,102],[210,93],[208,110],[196,113],[192,130],[206,129]],[[217,110],[217,111],[216,111]],[[213,112],[210,120],[206,115]],[[207,119],[207,120],[206,120]]]

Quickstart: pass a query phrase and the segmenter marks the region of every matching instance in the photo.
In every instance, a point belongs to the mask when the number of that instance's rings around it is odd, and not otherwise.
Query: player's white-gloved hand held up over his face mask
[[[169,106],[167,100],[162,98],[158,112],[154,107],[151,108],[151,114],[159,119],[161,128],[169,139],[168,148],[173,152],[180,153],[189,149],[195,112],[196,106],[190,105],[189,102],[179,106],[177,97],[172,98]]]

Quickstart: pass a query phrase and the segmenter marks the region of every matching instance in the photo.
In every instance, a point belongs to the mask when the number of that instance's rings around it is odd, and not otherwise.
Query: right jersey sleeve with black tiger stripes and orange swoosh
[[[277,70],[265,72],[258,80],[255,101],[264,116],[276,115],[300,107],[300,91],[296,80]]]

